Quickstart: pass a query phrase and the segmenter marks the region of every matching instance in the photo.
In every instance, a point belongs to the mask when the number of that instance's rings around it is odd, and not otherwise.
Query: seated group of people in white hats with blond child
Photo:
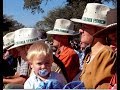
[[[46,32],[52,45],[35,28],[7,33],[3,61],[12,55],[17,65],[14,74],[3,76],[3,88],[116,89],[116,13],[103,4],[88,3],[82,19],[56,19],[53,30]],[[74,22],[82,24],[79,32]],[[80,35],[78,52],[69,41],[75,35]]]

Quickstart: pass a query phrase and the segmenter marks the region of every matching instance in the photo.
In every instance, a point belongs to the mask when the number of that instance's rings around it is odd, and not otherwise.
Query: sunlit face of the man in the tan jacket
[[[81,42],[90,44],[93,40],[93,34],[95,33],[95,27],[87,24],[83,24],[79,30],[81,34]]]

